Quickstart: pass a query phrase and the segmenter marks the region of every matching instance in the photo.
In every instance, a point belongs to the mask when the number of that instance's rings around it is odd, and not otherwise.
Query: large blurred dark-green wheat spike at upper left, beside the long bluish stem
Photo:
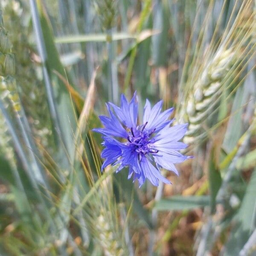
[[[5,29],[12,31],[12,33],[9,33],[9,41],[12,42],[12,53],[15,54],[16,59],[15,78],[20,103],[22,103],[29,121],[33,124],[33,134],[40,138],[44,146],[47,146],[52,144],[52,128],[44,81],[41,72],[38,71],[40,64],[37,65],[36,61],[32,63],[32,53],[34,51],[34,45],[30,42],[33,34],[32,27],[28,27],[26,21],[22,20],[22,16],[30,10],[29,6],[26,6],[23,2],[19,4],[20,9],[15,6],[13,1],[6,2],[3,17],[5,18]],[[12,19],[8,17],[12,17]],[[13,97],[16,100],[16,96],[13,95]]]

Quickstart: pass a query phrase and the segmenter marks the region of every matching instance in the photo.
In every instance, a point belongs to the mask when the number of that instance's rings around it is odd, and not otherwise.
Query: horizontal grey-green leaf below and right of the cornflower
[[[154,208],[158,211],[180,211],[209,206],[209,203],[210,197],[208,195],[174,195],[170,198],[157,201]]]

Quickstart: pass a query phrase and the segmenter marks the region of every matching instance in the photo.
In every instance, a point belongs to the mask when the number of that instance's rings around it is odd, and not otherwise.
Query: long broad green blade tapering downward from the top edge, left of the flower
[[[61,65],[52,31],[45,17],[41,2],[38,1],[38,9],[34,0],[30,0],[30,5],[38,49],[43,61],[43,73],[50,111],[55,128],[57,128],[67,152],[72,157],[74,150],[72,129],[74,130],[76,124],[73,106],[65,84],[53,71],[56,70],[63,77],[66,77],[66,73]]]

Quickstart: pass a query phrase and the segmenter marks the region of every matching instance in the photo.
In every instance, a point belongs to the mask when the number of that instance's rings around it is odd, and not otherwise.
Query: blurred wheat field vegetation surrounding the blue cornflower
[[[1,255],[256,255],[254,0],[1,0]],[[105,102],[188,122],[180,176],[100,172]]]

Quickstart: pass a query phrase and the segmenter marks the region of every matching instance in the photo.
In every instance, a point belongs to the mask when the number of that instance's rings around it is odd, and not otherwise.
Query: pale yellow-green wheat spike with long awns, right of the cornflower
[[[223,37],[219,38],[218,47],[212,41],[201,58],[191,65],[192,70],[184,87],[190,93],[181,103],[178,113],[179,122],[189,124],[185,143],[195,143],[204,132],[208,116],[218,109],[221,93],[231,90],[234,81],[239,81],[241,72],[248,64],[247,59],[255,54],[253,36],[256,27],[253,23],[254,13],[249,8],[251,5],[252,0],[244,3],[231,28],[226,29]],[[241,83],[237,84],[239,86]]]

